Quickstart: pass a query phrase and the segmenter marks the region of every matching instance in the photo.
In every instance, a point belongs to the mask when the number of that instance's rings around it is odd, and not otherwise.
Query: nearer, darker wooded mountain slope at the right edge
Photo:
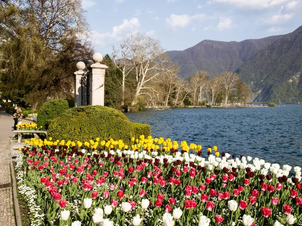
[[[302,26],[264,47],[240,66],[258,102],[302,101]]]

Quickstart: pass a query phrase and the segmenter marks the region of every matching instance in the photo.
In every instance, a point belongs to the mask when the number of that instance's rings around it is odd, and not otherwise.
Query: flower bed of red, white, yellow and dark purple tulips
[[[300,167],[143,136],[133,151],[98,138],[29,143],[16,170],[32,225],[301,225]]]

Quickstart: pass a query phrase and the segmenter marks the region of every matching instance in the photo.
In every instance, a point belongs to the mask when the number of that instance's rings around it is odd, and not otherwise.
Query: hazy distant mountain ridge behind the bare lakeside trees
[[[180,68],[180,76],[187,78],[197,70],[206,70],[213,77],[224,71],[237,70],[247,59],[282,35],[241,42],[204,40],[183,51],[167,51]]]

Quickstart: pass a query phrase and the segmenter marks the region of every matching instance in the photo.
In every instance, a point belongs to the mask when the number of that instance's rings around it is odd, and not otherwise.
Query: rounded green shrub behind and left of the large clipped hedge
[[[47,130],[48,124],[50,120],[58,117],[61,115],[65,110],[69,108],[67,100],[64,99],[55,99],[55,100],[50,100],[48,102],[45,102],[37,116],[37,125],[40,128],[44,130]]]

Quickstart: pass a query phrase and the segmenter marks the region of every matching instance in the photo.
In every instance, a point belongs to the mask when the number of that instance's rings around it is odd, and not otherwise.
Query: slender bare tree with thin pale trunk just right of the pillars
[[[125,82],[126,77],[132,72],[134,66],[129,60],[130,58],[130,49],[129,46],[124,44],[120,45],[120,50],[117,50],[113,46],[113,62],[115,66],[122,72],[122,97],[121,97],[121,105],[124,105],[125,101]]]

